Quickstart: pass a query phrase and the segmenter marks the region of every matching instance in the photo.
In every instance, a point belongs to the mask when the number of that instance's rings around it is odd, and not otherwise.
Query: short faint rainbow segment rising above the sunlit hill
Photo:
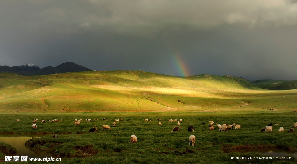
[[[188,70],[187,65],[184,63],[184,61],[178,56],[178,55],[173,55],[172,56],[172,64],[179,76],[190,76],[191,73]]]

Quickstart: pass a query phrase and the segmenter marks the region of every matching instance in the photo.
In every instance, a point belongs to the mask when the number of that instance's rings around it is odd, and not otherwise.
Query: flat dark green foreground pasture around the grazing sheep
[[[231,160],[231,157],[264,157],[257,152],[224,153],[226,149],[277,148],[297,151],[296,132],[287,133],[296,120],[297,112],[287,111],[222,111],[222,112],[56,112],[56,113],[1,113],[1,134],[46,134],[32,139],[28,146],[36,152],[49,151],[54,157],[65,157],[62,163],[296,163],[291,160]],[[87,122],[86,119],[92,122]],[[94,121],[94,118],[99,120]],[[106,118],[106,120],[103,120]],[[124,121],[116,122],[115,119]],[[153,122],[144,121],[144,118]],[[162,126],[158,119],[161,118]],[[7,119],[7,121],[6,121]],[[20,119],[17,122],[16,119]],[[37,122],[37,130],[31,123]],[[41,120],[63,119],[58,123]],[[82,119],[80,126],[73,121]],[[182,119],[179,132],[171,132]],[[208,121],[227,125],[236,123],[241,129],[227,132],[208,131]],[[201,125],[201,123],[206,123]],[[268,123],[273,132],[261,132]],[[111,130],[102,131],[102,125]],[[88,131],[98,126],[97,133]],[[194,126],[194,132],[187,127]],[[280,127],[285,132],[278,132]],[[296,130],[296,128],[294,129]],[[52,134],[59,137],[53,139]],[[137,143],[130,143],[130,136]],[[189,145],[189,136],[196,136],[195,147]],[[3,154],[1,155],[3,157]],[[34,162],[32,162],[34,163]]]

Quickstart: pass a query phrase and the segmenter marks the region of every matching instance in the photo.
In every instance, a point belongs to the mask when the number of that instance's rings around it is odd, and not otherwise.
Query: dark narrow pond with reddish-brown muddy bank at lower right
[[[239,152],[239,153],[248,153],[248,152],[257,152],[263,155],[269,155],[271,157],[285,157],[285,156],[291,156],[291,157],[297,157],[297,152],[287,149],[281,149],[281,148],[255,148],[255,149],[225,149],[225,153],[230,152]]]

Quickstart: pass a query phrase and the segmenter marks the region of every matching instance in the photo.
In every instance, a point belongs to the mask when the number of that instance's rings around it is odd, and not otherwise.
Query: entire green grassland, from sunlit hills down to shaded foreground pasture
[[[297,122],[296,94],[296,89],[262,89],[228,75],[175,77],[129,70],[40,76],[0,73],[0,134],[43,134],[26,146],[63,157],[61,163],[296,163],[295,157],[232,160],[268,157],[261,149],[297,151],[296,132],[287,133]],[[113,127],[121,118],[124,121]],[[39,119],[36,131],[31,127],[34,119]],[[43,119],[45,123],[40,122]],[[63,121],[47,121],[53,119]],[[83,120],[80,126],[74,125],[75,119]],[[171,132],[177,122],[169,119],[183,120],[179,132]],[[208,121],[241,128],[208,131]],[[268,123],[279,126],[261,132]],[[102,125],[111,130],[102,131]],[[98,132],[89,133],[94,126]],[[195,131],[188,132],[188,126]],[[278,132],[281,126],[285,132]],[[52,134],[59,137],[53,139]],[[132,134],[138,143],[129,142]],[[192,134],[195,147],[189,145]]]

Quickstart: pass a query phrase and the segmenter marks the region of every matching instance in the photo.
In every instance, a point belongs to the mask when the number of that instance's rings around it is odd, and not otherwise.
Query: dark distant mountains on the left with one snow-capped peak
[[[20,66],[12,66],[12,67],[7,65],[0,66],[0,72],[11,72],[11,73],[15,73],[23,76],[50,75],[55,73],[83,72],[83,71],[91,71],[91,69],[72,62],[62,63],[56,67],[47,66],[44,68],[40,68],[34,64],[26,64],[26,65],[20,65]]]

